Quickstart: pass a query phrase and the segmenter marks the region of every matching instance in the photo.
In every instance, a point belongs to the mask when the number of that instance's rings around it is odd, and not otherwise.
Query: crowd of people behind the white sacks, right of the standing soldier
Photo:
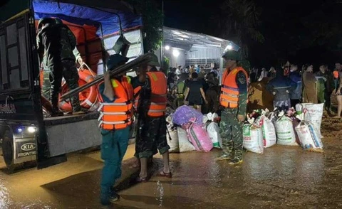
[[[338,100],[336,118],[341,117],[341,63],[335,63],[335,69],[328,69],[327,65],[320,65],[314,70],[313,65],[298,65],[289,62],[282,68],[271,68],[269,71],[262,68],[260,71],[253,68],[249,80],[253,82],[266,81],[266,90],[274,95],[274,108],[287,110],[303,103],[324,103],[325,111],[335,114],[331,109],[331,96]],[[315,72],[316,71],[316,72]]]

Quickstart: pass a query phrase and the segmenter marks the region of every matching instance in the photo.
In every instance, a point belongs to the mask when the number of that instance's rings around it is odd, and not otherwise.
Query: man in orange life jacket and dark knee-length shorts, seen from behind
[[[140,159],[140,174],[137,182],[147,182],[147,159],[157,148],[162,155],[164,167],[158,176],[172,177],[169,166],[169,149],[166,140],[165,110],[167,103],[167,79],[164,73],[157,71],[157,56],[147,63],[147,79],[140,92],[138,104],[138,127],[135,150]]]

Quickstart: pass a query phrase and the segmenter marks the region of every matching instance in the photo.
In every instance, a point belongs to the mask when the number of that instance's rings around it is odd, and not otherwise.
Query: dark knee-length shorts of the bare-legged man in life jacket
[[[135,141],[135,156],[139,159],[149,158],[156,154],[156,149],[160,154],[165,154],[170,149],[166,140],[166,132],[165,117],[139,119]]]

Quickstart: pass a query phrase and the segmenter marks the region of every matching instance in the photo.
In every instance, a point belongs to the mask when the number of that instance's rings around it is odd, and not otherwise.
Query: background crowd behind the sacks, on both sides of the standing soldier
[[[274,109],[288,110],[303,103],[324,103],[328,115],[336,114],[340,118],[342,112],[341,95],[341,63],[335,63],[336,68],[330,70],[327,65],[314,69],[313,65],[303,65],[287,62],[281,68],[252,68],[249,70],[249,83],[264,82],[265,89],[274,95]],[[175,107],[182,104],[194,106],[203,114],[219,111],[219,69],[204,70],[200,66],[170,68],[167,74],[167,86],[175,99]],[[337,112],[331,109],[331,96],[338,101]]]

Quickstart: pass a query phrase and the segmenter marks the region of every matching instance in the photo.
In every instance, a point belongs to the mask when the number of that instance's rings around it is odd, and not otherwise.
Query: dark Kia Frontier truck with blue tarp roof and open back
[[[9,1],[1,11],[17,8],[16,2]],[[0,26],[0,143],[10,171],[31,161],[38,168],[59,164],[66,161],[66,154],[101,143],[96,111],[43,116],[36,51],[39,18],[60,18],[69,26],[83,60],[97,75],[103,74],[108,55],[115,53],[120,33],[130,42],[128,58],[143,53],[142,18],[120,1],[25,2],[24,11],[10,18],[1,15]]]

